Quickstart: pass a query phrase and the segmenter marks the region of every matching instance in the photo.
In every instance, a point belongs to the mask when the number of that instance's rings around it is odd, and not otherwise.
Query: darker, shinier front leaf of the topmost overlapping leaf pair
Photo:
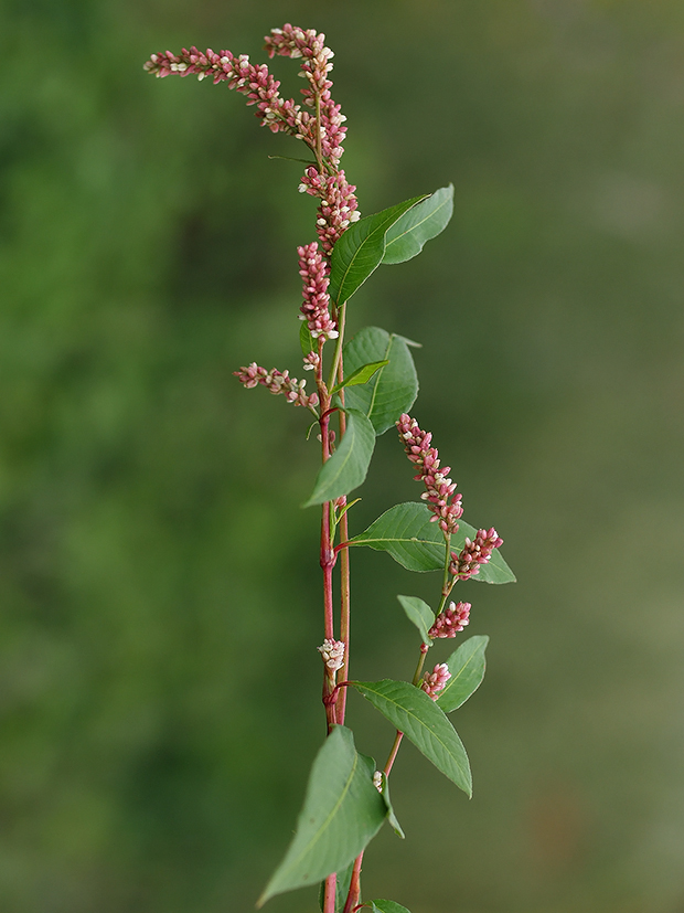
[[[425,194],[353,222],[332,248],[328,293],[343,305],[382,263],[387,230]]]

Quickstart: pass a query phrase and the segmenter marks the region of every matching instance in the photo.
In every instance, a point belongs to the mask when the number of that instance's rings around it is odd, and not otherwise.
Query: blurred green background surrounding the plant
[[[336,52],[364,214],[456,185],[447,232],[378,270],[350,330],[424,343],[415,414],[519,576],[463,584],[469,633],[491,635],[455,718],[474,798],[403,750],[407,839],[375,840],[365,894],[682,913],[681,0],[0,15],[3,913],[253,909],[323,737],[318,514],[299,508],[316,447],[302,411],[231,374],[301,376],[314,203],[267,158],[298,147],[241,96],[142,71],[192,43],[265,60],[285,21]],[[360,493],[356,531],[417,498],[392,433]],[[431,598],[437,577],[353,559],[354,672],[405,677],[395,594]],[[350,705],[384,757],[389,725]],[[313,913],[314,892],[267,909]]]

